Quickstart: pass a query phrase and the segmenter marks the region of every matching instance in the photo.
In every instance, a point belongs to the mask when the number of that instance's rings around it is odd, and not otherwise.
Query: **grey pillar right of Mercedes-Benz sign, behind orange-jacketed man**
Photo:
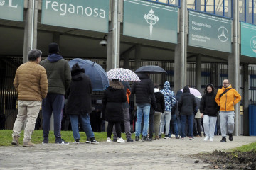
[[[232,84],[232,87],[237,91],[240,89],[240,52],[238,44],[239,36],[239,11],[238,11],[238,1],[233,3],[233,44],[232,52],[228,55],[228,80]],[[239,134],[240,125],[240,104],[235,105],[235,132],[234,135]]]

